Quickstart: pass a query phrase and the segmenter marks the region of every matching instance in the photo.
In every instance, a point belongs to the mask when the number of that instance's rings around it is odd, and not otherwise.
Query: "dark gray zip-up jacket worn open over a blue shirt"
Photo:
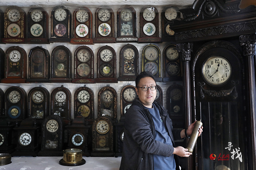
[[[167,110],[157,102],[154,102],[154,104],[159,109],[173,146],[155,140],[155,126],[152,116],[148,109],[138,99],[135,99],[125,114],[120,170],[153,170],[153,154],[169,157],[174,151],[174,140],[181,140],[181,130],[173,129],[172,120]],[[177,169],[179,167],[179,158],[174,155],[174,159]]]

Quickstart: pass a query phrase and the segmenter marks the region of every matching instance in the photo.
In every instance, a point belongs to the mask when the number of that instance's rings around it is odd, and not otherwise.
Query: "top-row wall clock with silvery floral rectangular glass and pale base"
[[[137,42],[136,11],[129,5],[117,10],[116,42]]]

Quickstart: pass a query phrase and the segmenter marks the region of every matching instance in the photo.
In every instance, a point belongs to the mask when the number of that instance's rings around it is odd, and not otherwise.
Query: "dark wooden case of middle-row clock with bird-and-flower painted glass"
[[[132,48],[134,50],[134,58],[131,60],[127,60],[124,58],[124,51],[127,48]],[[120,76],[118,77],[118,81],[135,81],[137,75],[139,74],[139,51],[138,49],[132,45],[132,44],[127,44],[124,45],[121,49],[120,49]],[[133,68],[133,74],[134,75],[125,75],[125,70],[124,70],[124,66],[127,66],[129,68]],[[127,70],[129,72],[129,70]]]

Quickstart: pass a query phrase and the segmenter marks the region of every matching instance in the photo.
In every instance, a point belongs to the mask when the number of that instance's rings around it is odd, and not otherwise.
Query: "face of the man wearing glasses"
[[[153,85],[156,85],[155,80],[151,77],[145,77],[140,79],[138,87],[136,87],[140,102],[148,108],[152,108],[152,103],[156,98],[156,90],[151,91],[150,88],[148,88],[148,91],[142,91],[139,87],[150,87]]]

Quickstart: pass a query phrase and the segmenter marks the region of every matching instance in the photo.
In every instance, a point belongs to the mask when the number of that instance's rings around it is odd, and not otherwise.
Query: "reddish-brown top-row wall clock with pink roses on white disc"
[[[86,7],[76,8],[73,13],[72,44],[94,44],[92,41],[92,12]]]

